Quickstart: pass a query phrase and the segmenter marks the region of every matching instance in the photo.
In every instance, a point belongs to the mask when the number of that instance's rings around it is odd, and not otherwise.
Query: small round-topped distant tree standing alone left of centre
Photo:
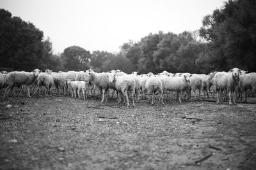
[[[90,51],[86,51],[80,46],[70,46],[65,48],[61,58],[66,71],[81,71],[89,69],[91,54]]]

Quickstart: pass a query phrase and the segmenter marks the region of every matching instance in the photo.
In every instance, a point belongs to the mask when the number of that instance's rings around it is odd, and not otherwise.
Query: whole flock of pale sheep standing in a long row
[[[190,73],[168,73],[163,71],[159,74],[140,74],[138,72],[132,72],[132,74],[126,74],[120,70],[112,70],[108,73],[95,73],[92,69],[87,71],[68,71],[58,73],[52,72],[47,69],[44,73],[39,69],[35,69],[32,72],[25,71],[12,71],[10,73],[0,73],[0,94],[1,89],[6,89],[2,92],[3,96],[15,95],[15,88],[20,88],[22,85],[26,85],[28,97],[30,97],[30,87],[35,86],[36,91],[39,91],[44,86],[46,92],[51,95],[51,88],[55,87],[60,94],[60,89],[64,95],[71,94],[72,97],[78,97],[80,99],[80,92],[83,94],[83,99],[87,99],[87,94],[95,94],[95,90],[99,90],[102,101],[108,100],[109,90],[116,91],[118,104],[125,101],[129,107],[129,97],[132,98],[132,106],[134,107],[134,97],[136,101],[146,97],[148,95],[148,101],[151,104],[155,103],[155,95],[159,94],[159,100],[162,104],[163,94],[166,92],[167,100],[168,92],[175,92],[177,100],[181,103],[180,96],[183,94],[184,99],[191,98],[191,90],[193,90],[196,99],[196,91],[199,92],[199,99],[201,91],[207,94],[211,92],[213,87],[214,92],[217,93],[218,101],[220,104],[223,102],[223,98],[228,94],[229,104],[232,104],[231,97],[233,97],[234,103],[236,103],[237,96],[244,96],[246,101],[247,92],[251,91],[252,94],[256,90],[256,73],[246,73],[241,69],[230,69],[228,72],[214,72],[208,75],[206,74],[190,74]],[[3,90],[2,90],[3,91]]]

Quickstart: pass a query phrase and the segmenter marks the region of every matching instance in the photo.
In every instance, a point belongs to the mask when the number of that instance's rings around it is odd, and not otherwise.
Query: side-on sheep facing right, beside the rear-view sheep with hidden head
[[[184,92],[185,90],[188,90],[190,87],[188,77],[185,75],[182,77],[165,76],[165,77],[161,77],[160,80],[162,81],[164,90],[177,92],[177,99],[179,97],[179,102],[181,103],[180,92]],[[167,99],[168,99],[168,94],[167,94]]]

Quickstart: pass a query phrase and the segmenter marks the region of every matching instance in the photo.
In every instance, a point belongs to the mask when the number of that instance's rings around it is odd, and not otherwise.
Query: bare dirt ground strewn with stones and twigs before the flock
[[[164,102],[0,101],[0,169],[256,169],[256,104]]]

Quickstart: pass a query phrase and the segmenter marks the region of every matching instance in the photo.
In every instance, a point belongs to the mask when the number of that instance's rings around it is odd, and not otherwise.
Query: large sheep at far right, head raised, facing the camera
[[[231,72],[229,73],[219,72],[214,75],[213,83],[214,83],[214,89],[216,90],[216,92],[218,92],[218,96],[217,96],[218,104],[222,103],[223,99],[221,96],[224,90],[227,90],[228,92],[228,96],[229,96],[228,104],[232,104],[231,94],[233,96],[234,104],[236,104],[236,91],[240,83],[240,76],[239,76],[240,69],[233,68],[233,69],[230,69],[230,71]]]

